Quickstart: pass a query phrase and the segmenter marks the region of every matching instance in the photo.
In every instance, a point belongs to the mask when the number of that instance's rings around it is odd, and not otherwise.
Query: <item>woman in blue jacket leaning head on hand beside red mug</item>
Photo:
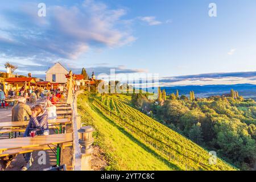
[[[40,105],[34,105],[31,107],[31,118],[27,125],[26,131],[23,137],[30,137],[30,132],[35,131],[36,135],[49,135],[48,128],[48,112],[44,110]],[[32,152],[24,154],[25,164],[21,171],[27,171],[32,166]]]

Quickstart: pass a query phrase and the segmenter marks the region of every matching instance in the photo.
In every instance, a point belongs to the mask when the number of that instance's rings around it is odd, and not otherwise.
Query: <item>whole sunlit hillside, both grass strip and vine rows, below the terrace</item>
[[[109,166],[119,170],[234,170],[208,151],[127,105],[130,97],[81,94],[77,100],[84,125],[92,125],[95,143]]]

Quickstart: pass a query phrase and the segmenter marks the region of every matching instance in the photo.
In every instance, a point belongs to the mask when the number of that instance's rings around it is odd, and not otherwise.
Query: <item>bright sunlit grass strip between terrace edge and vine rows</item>
[[[161,159],[154,151],[138,142],[132,135],[116,126],[113,121],[102,115],[87,100],[78,98],[79,112],[85,125],[96,129],[96,143],[106,152],[110,167],[119,170],[177,170],[171,163]]]

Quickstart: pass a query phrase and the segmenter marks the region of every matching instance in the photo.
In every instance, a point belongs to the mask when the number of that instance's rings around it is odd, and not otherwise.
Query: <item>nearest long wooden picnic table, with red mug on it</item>
[[[36,148],[44,149],[49,145],[57,144],[57,165],[60,165],[60,144],[73,141],[73,134],[55,134],[55,135],[40,135],[36,137],[23,137],[13,139],[0,140],[0,157],[6,155],[23,154],[37,150]],[[33,149],[34,148],[34,149]]]

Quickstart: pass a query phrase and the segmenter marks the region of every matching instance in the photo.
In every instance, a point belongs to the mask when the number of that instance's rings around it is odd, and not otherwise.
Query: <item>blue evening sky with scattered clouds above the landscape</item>
[[[255,8],[254,0],[1,1],[0,71],[10,61],[43,78],[60,61],[89,75],[158,73],[164,85],[256,84]]]

